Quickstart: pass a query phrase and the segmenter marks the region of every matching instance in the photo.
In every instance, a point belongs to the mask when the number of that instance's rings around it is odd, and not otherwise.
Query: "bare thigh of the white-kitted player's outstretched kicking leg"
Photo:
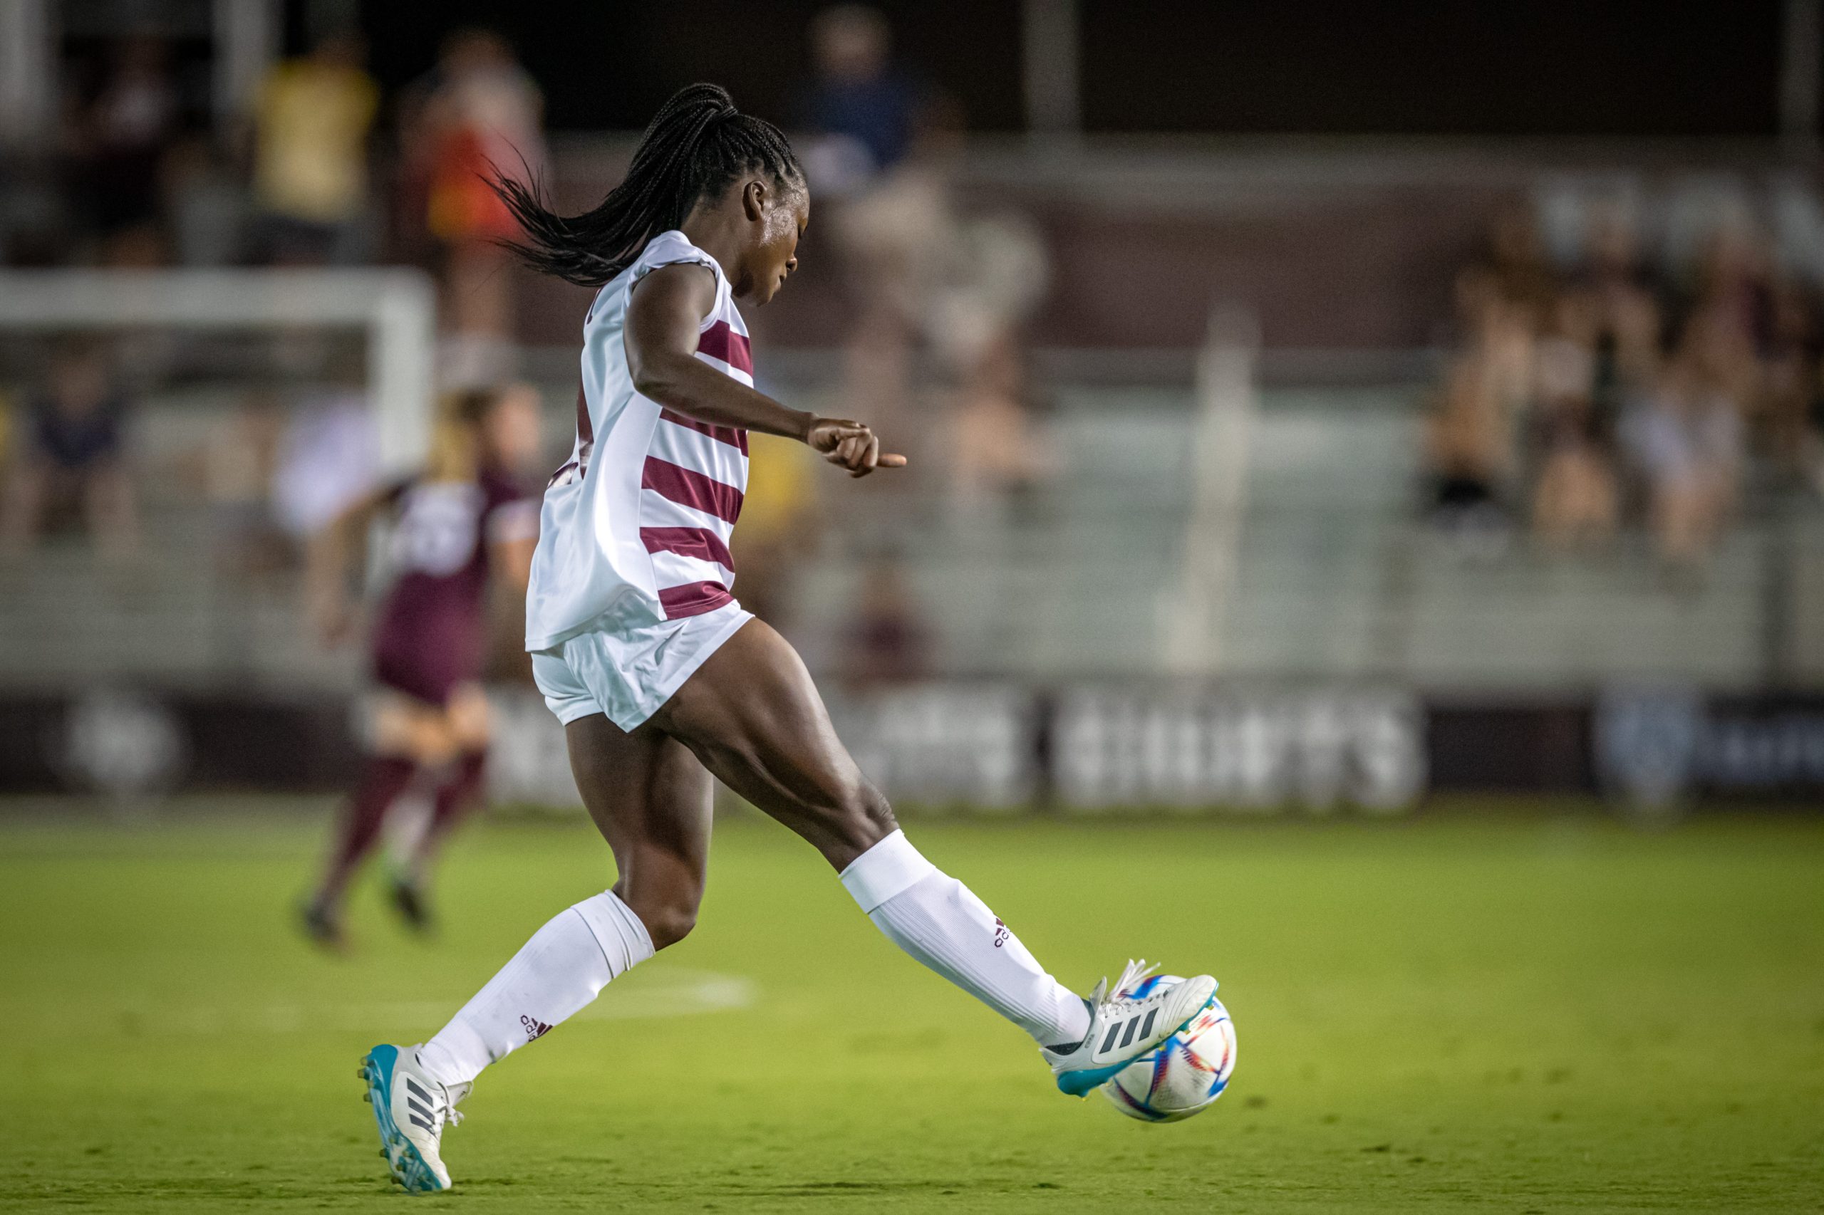
[[[648,724],[837,868],[894,830],[886,799],[835,737],[804,662],[762,620],[722,642]]]

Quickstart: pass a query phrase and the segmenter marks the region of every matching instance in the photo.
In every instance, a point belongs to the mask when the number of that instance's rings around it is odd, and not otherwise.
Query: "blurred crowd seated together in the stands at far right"
[[[1457,274],[1426,440],[1430,509],[1465,542],[1601,549],[1638,525],[1694,575],[1753,493],[1824,487],[1817,290],[1746,213],[1658,259],[1634,215],[1587,208],[1554,259],[1512,208]]]

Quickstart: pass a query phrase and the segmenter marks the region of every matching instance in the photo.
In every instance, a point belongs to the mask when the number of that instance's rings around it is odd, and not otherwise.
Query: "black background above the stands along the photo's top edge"
[[[823,0],[602,4],[365,0],[372,69],[427,71],[445,33],[491,26],[545,89],[554,130],[637,130],[717,80],[790,120]],[[1016,0],[885,0],[901,58],[970,130],[1018,131]],[[1777,128],[1780,5],[1082,0],[1083,128],[1306,135],[1735,135]],[[290,22],[288,40],[301,40]],[[1135,88],[1145,82],[1145,88]]]

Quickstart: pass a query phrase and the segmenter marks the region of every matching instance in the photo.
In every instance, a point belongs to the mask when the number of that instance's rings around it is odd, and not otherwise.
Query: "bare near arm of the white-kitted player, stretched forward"
[[[697,332],[713,306],[715,275],[704,266],[677,263],[640,279],[627,301],[624,338],[640,396],[710,425],[795,438],[850,476],[905,467],[907,458],[883,452],[865,423],[786,409],[699,359]]]

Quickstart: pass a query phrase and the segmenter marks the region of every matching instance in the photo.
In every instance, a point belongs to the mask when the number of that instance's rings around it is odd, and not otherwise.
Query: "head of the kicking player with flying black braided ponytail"
[[[671,95],[640,137],[627,177],[593,212],[564,219],[536,186],[496,181],[525,230],[513,248],[534,268],[582,286],[626,270],[660,232],[699,208],[722,208],[742,234],[735,294],[766,303],[797,265],[810,212],[804,170],[772,122],[735,109],[728,91],[691,84]]]

